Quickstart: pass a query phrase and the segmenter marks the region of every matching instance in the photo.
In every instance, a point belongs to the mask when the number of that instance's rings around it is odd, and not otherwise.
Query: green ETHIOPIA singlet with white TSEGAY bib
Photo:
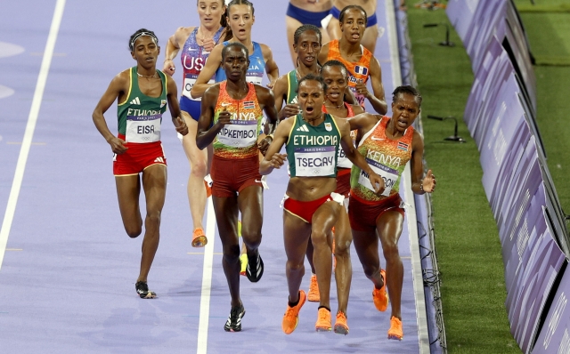
[[[309,125],[301,115],[295,119],[287,141],[291,177],[336,177],[340,131],[337,122],[324,114],[320,125]]]

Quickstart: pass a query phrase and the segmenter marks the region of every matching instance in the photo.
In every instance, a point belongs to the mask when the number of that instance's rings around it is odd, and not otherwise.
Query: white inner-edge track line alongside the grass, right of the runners
[[[390,58],[392,61],[392,82],[394,88],[402,84],[402,71],[400,69],[400,50],[398,46],[398,36],[395,23],[394,0],[386,0],[386,20],[388,30],[388,43],[390,46]],[[421,259],[419,258],[418,220],[416,219],[416,203],[411,191],[411,171],[410,162],[403,171],[404,192],[406,203],[412,205],[411,213],[406,213],[408,220],[408,231],[410,237],[411,253],[411,277],[416,303],[416,320],[418,322],[418,342],[419,353],[428,354],[429,334],[428,315],[426,312],[426,297],[424,294],[424,282],[421,270]]]

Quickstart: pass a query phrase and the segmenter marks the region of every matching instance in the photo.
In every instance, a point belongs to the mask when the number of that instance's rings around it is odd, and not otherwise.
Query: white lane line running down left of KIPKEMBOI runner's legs
[[[208,324],[210,316],[210,291],[212,289],[212,261],[214,259],[214,241],[216,240],[216,213],[212,197],[208,197],[208,217],[206,218],[206,237],[204,247],[204,266],[202,270],[202,294],[199,301],[198,347],[197,354],[208,351]]]

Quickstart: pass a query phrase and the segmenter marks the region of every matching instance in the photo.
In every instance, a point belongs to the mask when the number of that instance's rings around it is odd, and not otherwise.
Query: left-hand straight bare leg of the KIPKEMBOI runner
[[[237,197],[214,197],[217,229],[222,240],[225,279],[232,296],[232,308],[241,305],[240,299],[240,242],[238,240]]]

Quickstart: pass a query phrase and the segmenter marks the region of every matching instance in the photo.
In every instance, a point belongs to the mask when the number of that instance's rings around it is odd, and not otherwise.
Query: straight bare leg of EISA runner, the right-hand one
[[[167,166],[151,165],[142,172],[142,188],[146,199],[144,239],[142,239],[141,274],[137,281],[146,281],[154,255],[159,248],[160,214],[167,195]]]

